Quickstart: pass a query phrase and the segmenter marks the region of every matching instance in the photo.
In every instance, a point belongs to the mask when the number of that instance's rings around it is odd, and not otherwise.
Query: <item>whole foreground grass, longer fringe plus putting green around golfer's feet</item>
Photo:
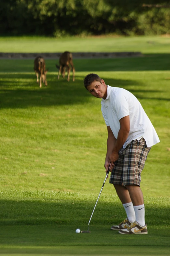
[[[105,188],[104,188],[105,190]],[[170,200],[145,197],[149,234],[124,237],[110,230],[125,212],[117,196],[101,194],[87,230],[97,194],[1,191],[0,252],[20,255],[168,255]],[[166,219],[165,219],[166,216]],[[127,249],[128,248],[128,249]],[[141,250],[137,251],[137,248]],[[12,255],[12,254],[11,254]]]

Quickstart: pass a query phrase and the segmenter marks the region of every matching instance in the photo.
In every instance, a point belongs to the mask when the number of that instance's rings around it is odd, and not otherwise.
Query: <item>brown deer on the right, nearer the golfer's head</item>
[[[55,64],[56,68],[59,69],[58,79],[60,77],[60,73],[62,74],[63,78],[65,77],[65,68],[66,68],[67,69],[67,74],[68,74],[67,81],[69,82],[69,80],[70,80],[70,70],[71,70],[69,65],[71,65],[72,70],[73,70],[73,81],[75,81],[75,78],[74,78],[75,68],[74,68],[74,65],[73,65],[73,56],[72,56],[71,52],[62,53],[62,55],[59,58],[59,65],[60,66]]]

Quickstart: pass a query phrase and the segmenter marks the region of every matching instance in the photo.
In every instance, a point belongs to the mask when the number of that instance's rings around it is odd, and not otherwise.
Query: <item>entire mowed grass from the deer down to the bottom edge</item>
[[[58,60],[46,60],[41,89],[33,60],[0,61],[0,254],[169,255],[169,56],[73,61],[76,81],[68,83],[57,79]],[[87,230],[105,178],[100,99],[83,86],[90,72],[135,94],[160,137],[142,173],[148,235],[110,230],[125,212],[108,180],[91,233],[75,233]]]

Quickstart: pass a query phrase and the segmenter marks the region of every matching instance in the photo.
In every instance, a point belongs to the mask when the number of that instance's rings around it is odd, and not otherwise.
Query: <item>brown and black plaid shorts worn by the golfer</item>
[[[144,138],[132,141],[126,148],[119,150],[119,159],[110,174],[109,183],[120,185],[139,185],[141,172],[151,147]]]

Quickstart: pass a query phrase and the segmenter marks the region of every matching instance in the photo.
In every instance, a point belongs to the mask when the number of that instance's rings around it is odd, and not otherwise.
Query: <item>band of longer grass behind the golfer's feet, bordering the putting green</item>
[[[103,191],[106,192],[106,186]],[[49,224],[59,225],[61,228],[63,225],[65,227],[68,225],[72,227],[71,233],[77,228],[86,230],[97,196],[96,193],[1,190],[0,225],[9,226],[9,229],[11,225],[41,226]],[[167,219],[170,216],[169,197],[145,196],[145,200],[147,224],[155,229],[159,226],[166,229],[168,226]],[[164,215],[167,216],[166,219],[163,217]],[[110,227],[113,222],[121,222],[124,216],[125,211],[121,207],[118,196],[102,192],[91,220],[90,230],[94,231],[98,225]],[[43,245],[44,242],[39,241],[39,243],[39,245]],[[60,239],[58,245],[68,243],[70,242]],[[111,241],[103,241],[102,243],[111,245]]]

